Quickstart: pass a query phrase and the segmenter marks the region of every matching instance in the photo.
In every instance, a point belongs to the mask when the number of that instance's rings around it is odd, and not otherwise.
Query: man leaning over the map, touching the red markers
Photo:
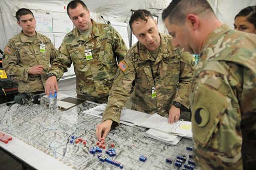
[[[156,20],[147,10],[135,11],[130,27],[139,42],[130,48],[118,65],[102,123],[96,128],[98,138],[101,138],[102,131],[103,138],[106,137],[113,122],[119,124],[133,82],[133,110],[150,114],[158,112],[173,123],[182,116],[181,107],[189,109],[188,93],[195,64],[193,56],[174,48],[172,37],[158,32]]]

